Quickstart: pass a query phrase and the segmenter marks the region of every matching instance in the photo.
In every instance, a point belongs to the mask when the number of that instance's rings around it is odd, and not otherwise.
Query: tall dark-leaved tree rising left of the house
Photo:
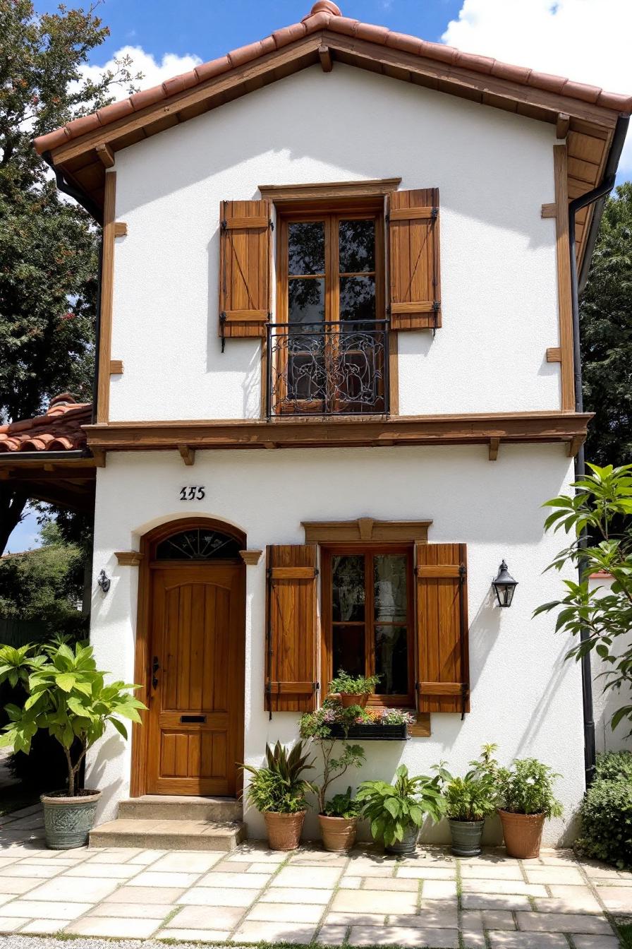
[[[32,139],[130,87],[128,59],[96,83],[81,74],[108,32],[95,7],[36,14],[30,0],[0,0],[0,421],[38,415],[64,391],[91,399],[99,233]],[[0,552],[26,503],[0,483]]]

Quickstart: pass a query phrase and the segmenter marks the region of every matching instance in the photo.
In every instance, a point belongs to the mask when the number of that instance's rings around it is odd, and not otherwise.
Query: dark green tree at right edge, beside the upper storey
[[[632,462],[632,182],[608,198],[581,303],[587,456]]]

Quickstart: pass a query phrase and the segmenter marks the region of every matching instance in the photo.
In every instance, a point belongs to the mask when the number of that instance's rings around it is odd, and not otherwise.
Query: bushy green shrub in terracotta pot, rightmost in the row
[[[536,758],[515,760],[511,768],[497,770],[498,814],[508,856],[527,860],[539,855],[545,820],[562,816],[562,805],[553,797],[559,776]]]

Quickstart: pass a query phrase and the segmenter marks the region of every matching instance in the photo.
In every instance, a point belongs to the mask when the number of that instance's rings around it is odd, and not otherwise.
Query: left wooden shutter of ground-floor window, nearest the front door
[[[316,544],[267,548],[265,708],[316,708]]]

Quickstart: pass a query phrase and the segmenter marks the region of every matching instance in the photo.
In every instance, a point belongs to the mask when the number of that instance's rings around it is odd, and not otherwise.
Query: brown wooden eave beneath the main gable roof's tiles
[[[67,180],[102,208],[104,176],[108,167],[103,155],[114,156],[116,160],[117,151],[123,148],[308,66],[317,65],[323,47],[329,50],[334,63],[358,66],[536,121],[558,125],[560,117],[568,116],[569,199],[586,194],[602,180],[619,112],[327,29],[69,140],[53,150],[52,163],[63,171]],[[564,123],[566,128],[566,119]],[[580,263],[592,213],[590,208],[577,215]]]

